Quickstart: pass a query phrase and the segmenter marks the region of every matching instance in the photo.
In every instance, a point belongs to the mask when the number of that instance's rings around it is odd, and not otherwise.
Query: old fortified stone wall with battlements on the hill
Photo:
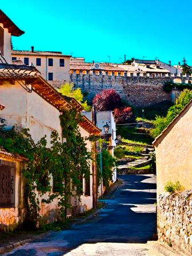
[[[97,75],[97,74],[70,74],[70,81],[75,88],[89,92],[93,97],[103,89],[115,89],[123,99],[131,105],[149,106],[161,101],[171,101],[170,93],[163,91],[163,83],[173,80],[173,77],[153,77],[143,74],[133,74],[133,76],[121,75]]]

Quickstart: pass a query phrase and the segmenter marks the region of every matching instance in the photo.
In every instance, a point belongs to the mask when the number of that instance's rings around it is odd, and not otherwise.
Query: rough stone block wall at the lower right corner
[[[159,195],[157,229],[161,242],[192,255],[192,190]]]

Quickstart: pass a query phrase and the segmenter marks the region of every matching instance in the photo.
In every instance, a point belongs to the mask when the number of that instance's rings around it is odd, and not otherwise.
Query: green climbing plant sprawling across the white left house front
[[[26,179],[27,221],[37,223],[40,218],[37,194],[48,193],[49,197],[44,200],[46,203],[57,198],[62,217],[66,217],[66,209],[70,207],[71,189],[75,189],[79,197],[82,194],[82,178],[90,175],[91,153],[87,151],[86,142],[78,129],[79,118],[81,117],[75,110],[63,111],[60,117],[63,142],[57,131],[53,131],[51,147],[47,147],[46,136],[35,143],[29,129],[19,131],[17,127],[12,127],[7,130],[1,119],[0,146],[27,158],[26,168],[23,170]],[[51,175],[54,193],[51,193]]]

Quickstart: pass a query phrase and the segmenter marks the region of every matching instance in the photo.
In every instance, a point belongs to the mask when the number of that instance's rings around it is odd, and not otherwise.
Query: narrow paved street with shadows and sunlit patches
[[[155,178],[151,174],[119,178],[122,186],[112,198],[103,199],[106,207],[94,219],[3,255],[148,255],[145,243],[156,232]]]

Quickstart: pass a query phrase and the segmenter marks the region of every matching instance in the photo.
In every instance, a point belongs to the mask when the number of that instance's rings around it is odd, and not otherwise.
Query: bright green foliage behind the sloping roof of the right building
[[[166,117],[157,116],[155,118],[155,121],[153,122],[154,129],[151,130],[150,135],[153,138],[157,137],[173,121],[173,119],[177,117],[191,99],[192,91],[189,89],[183,90],[176,100],[175,105],[169,108]]]

